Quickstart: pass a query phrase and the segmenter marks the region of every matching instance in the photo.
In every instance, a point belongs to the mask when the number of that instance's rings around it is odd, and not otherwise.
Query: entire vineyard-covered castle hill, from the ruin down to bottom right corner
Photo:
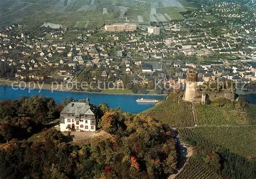
[[[193,106],[182,93],[171,93],[145,113],[173,127],[181,143],[194,148],[176,178],[255,178],[255,109],[243,97]]]

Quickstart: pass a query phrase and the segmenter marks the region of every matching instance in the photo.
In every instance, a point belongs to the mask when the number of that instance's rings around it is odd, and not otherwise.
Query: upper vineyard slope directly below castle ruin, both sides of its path
[[[145,113],[170,126],[188,127],[211,125],[246,125],[255,123],[255,105],[243,98],[230,102],[227,99],[212,101],[210,105],[195,104],[195,121],[192,104],[181,99],[182,93],[169,94],[167,99]]]

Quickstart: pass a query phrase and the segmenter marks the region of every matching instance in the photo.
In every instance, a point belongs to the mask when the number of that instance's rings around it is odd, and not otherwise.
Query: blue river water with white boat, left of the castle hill
[[[14,90],[9,86],[0,86],[0,100],[5,99],[18,99],[20,96],[33,96],[33,95],[44,95],[52,97],[57,104],[61,104],[62,98],[72,96],[74,99],[85,99],[90,98],[90,103],[99,105],[100,103],[108,103],[110,108],[120,107],[124,112],[139,113],[148,108],[154,106],[154,104],[139,104],[136,102],[137,98],[152,98],[162,100],[164,96],[144,96],[144,95],[111,95],[111,94],[90,94],[90,93],[79,93],[79,92],[62,92],[49,90],[31,90],[28,89],[17,89]]]

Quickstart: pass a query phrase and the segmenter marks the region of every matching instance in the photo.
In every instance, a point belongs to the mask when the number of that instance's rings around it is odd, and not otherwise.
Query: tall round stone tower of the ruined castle
[[[197,97],[197,72],[194,69],[187,71],[186,91],[184,100],[192,102]]]

